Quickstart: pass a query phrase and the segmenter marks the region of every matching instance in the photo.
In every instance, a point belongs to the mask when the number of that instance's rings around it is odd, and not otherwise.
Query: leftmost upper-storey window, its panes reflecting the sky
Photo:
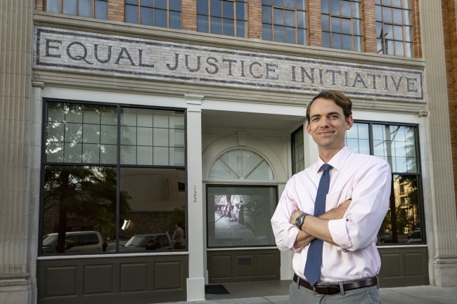
[[[46,0],[46,11],[108,20],[108,0]]]

